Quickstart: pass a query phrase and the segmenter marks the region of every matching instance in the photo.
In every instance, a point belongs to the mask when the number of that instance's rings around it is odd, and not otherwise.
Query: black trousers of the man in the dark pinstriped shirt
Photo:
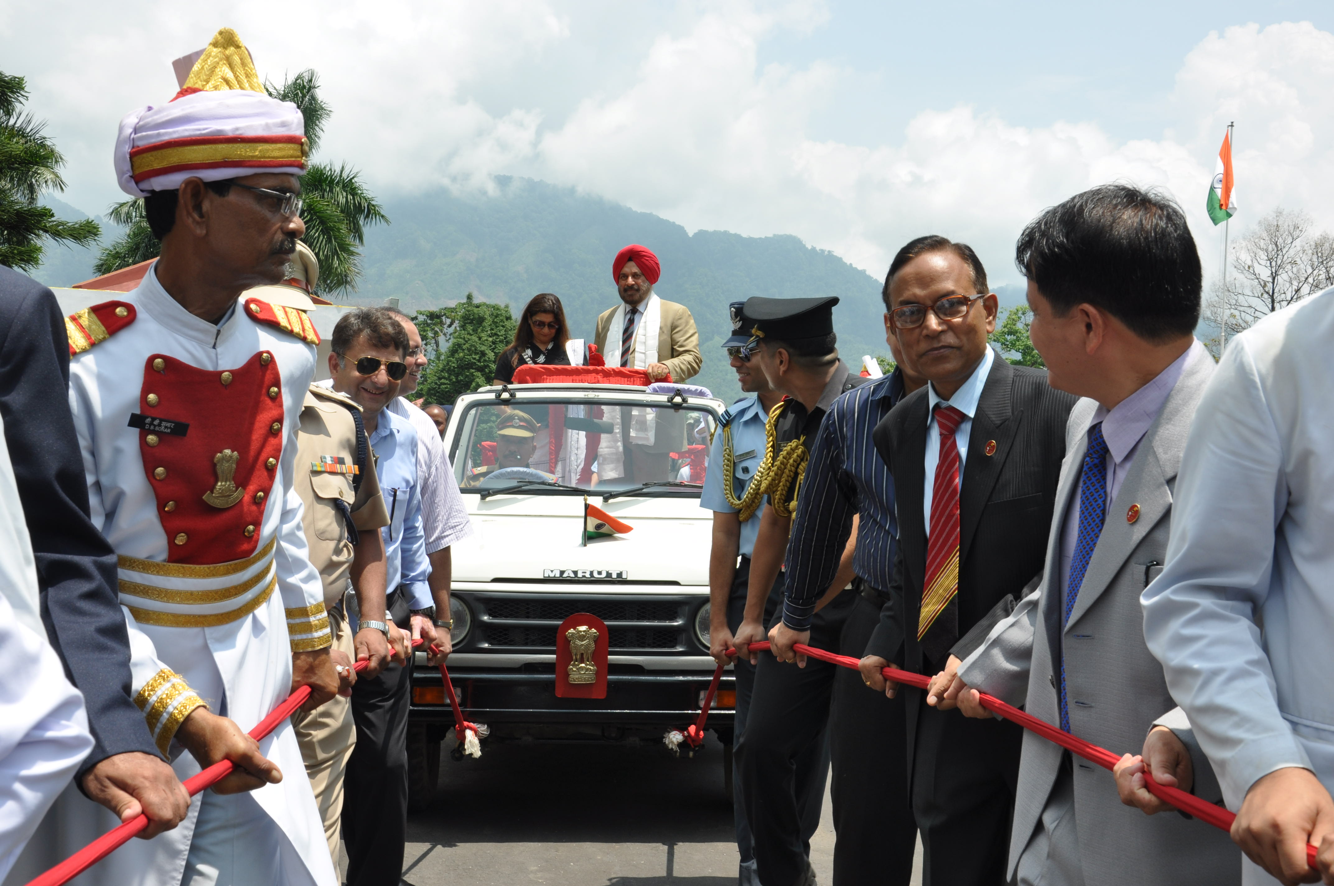
[[[871,594],[854,596],[839,636],[840,655],[866,654],[866,643],[880,622],[880,603]],[[838,833],[834,886],[907,886],[912,878],[916,823],[908,802],[903,694],[888,699],[884,693],[868,690],[859,671],[846,667],[834,671],[830,711],[830,794]]]

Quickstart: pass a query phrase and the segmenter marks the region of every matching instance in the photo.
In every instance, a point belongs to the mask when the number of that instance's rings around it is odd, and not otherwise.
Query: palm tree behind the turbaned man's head
[[[301,111],[305,139],[311,153],[319,147],[324,127],[334,111],[320,97],[320,80],[315,71],[301,71],[283,80],[281,85],[265,81],[269,96],[291,101]],[[301,176],[301,222],[305,244],[320,260],[320,295],[346,296],[362,276],[362,247],[366,228],[388,224],[390,216],[362,181],[362,175],[346,163],[311,163]],[[125,234],[97,256],[95,271],[111,274],[131,264],[156,258],[161,250],[144,217],[143,200],[127,200],[112,207],[108,216],[125,226]]]

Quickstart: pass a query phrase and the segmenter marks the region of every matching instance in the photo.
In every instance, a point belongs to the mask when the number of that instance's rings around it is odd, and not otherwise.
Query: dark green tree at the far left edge
[[[39,204],[43,195],[65,189],[65,159],[43,133],[47,124],[23,113],[27,100],[27,80],[0,72],[0,264],[19,271],[41,264],[45,240],[87,246],[101,235],[92,219],[63,222]]]

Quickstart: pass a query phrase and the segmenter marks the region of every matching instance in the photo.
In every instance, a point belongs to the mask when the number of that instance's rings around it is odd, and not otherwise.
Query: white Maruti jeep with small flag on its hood
[[[660,392],[651,392],[660,391]],[[444,446],[472,519],[452,548],[454,654],[467,721],[491,742],[658,742],[699,717],[708,656],[712,515],[704,463],[724,404],[700,388],[515,384],[459,398]],[[520,416],[515,416],[520,412]],[[630,531],[588,536],[586,506]],[[608,630],[606,698],[558,698],[560,623]],[[735,685],[707,727],[731,782]],[[418,654],[408,726],[414,807],[431,801],[454,725],[440,673]],[[460,749],[451,749],[455,758]]]

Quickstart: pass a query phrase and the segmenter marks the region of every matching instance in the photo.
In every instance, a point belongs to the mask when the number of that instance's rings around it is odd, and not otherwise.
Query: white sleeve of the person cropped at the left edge
[[[32,542],[0,446],[0,879],[93,745],[83,697],[65,679],[37,607]]]

